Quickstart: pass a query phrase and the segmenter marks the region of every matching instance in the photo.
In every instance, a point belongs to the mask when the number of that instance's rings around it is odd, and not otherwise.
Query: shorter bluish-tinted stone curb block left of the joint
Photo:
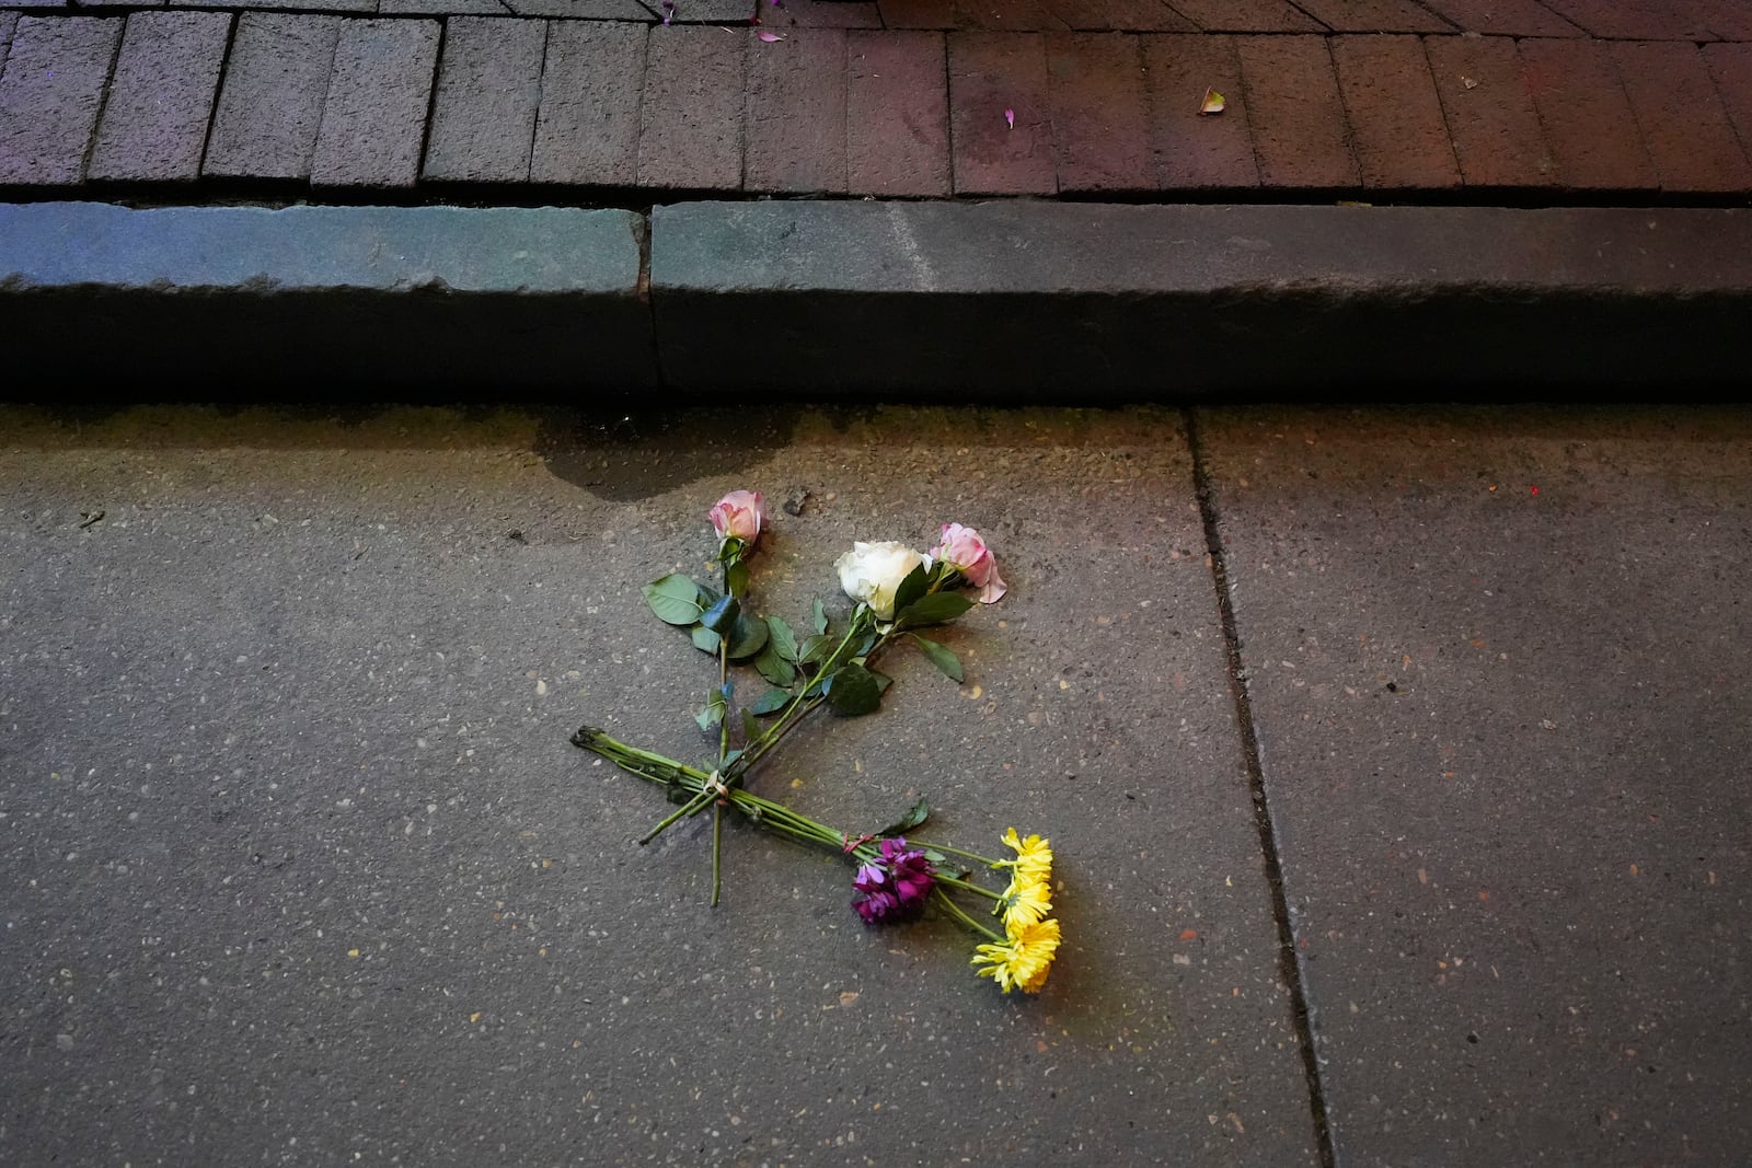
[[[14,396],[498,396],[655,380],[627,210],[0,207]]]

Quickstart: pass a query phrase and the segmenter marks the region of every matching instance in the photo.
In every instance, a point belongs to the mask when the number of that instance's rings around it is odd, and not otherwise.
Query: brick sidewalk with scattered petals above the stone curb
[[[0,189],[1752,191],[1743,0],[272,2],[0,7]]]

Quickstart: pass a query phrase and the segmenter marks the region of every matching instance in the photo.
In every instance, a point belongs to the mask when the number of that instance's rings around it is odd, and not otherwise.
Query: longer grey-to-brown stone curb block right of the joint
[[[937,399],[1745,383],[1752,214],[694,203],[664,378]]]

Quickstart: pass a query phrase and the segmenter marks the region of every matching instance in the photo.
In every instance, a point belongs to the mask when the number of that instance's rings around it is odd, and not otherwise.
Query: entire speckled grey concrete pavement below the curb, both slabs
[[[1733,1163],[1748,431],[0,408],[0,1159]],[[568,744],[701,751],[638,587],[732,487],[802,501],[787,615],[992,538],[965,685],[895,660],[760,783],[1051,835],[1042,995],[746,830],[710,909],[710,828],[639,849]]]

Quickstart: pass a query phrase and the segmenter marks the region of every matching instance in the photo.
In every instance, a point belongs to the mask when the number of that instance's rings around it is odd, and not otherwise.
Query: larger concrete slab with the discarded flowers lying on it
[[[0,412],[0,1159],[1314,1164],[1174,412]],[[710,658],[639,585],[762,489],[767,611],[853,538],[1011,585],[757,790],[1048,834],[1039,996],[850,869],[668,811]]]

